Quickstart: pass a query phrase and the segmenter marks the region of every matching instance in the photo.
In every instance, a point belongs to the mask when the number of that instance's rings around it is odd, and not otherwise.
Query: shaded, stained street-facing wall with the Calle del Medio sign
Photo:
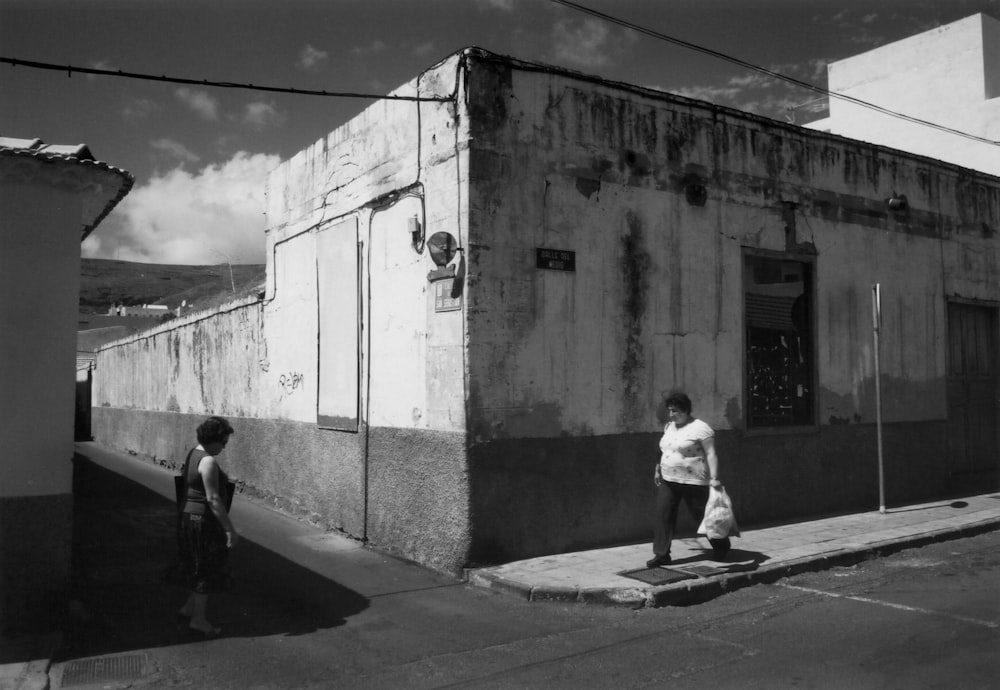
[[[1000,298],[996,179],[488,56],[473,74],[477,558],[648,539],[673,389],[718,431],[746,521],[877,507],[874,283],[889,496],[947,490],[947,304]],[[814,271],[805,428],[746,425],[748,253]]]

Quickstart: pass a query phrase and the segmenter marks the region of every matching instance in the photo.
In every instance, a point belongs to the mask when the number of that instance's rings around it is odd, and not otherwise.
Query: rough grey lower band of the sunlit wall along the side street
[[[204,417],[96,407],[92,430],[106,446],[179,469]],[[229,421],[236,433],[220,462],[239,493],[437,570],[455,573],[466,562],[464,435]]]

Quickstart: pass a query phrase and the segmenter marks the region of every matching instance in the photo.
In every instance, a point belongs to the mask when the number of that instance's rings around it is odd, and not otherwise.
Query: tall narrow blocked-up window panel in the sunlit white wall
[[[358,430],[360,310],[358,222],[348,218],[316,237],[319,292],[319,426]]]

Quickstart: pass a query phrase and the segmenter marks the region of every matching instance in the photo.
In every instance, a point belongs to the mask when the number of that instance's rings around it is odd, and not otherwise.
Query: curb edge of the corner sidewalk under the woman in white
[[[660,587],[614,587],[587,589],[579,587],[535,586],[479,570],[467,573],[467,581],[476,587],[514,595],[532,602],[580,603],[621,606],[632,609],[665,606],[691,606],[711,601],[724,594],[756,584],[771,584],[806,572],[857,565],[862,561],[888,556],[898,551],[919,548],[952,539],[962,539],[1000,529],[1000,518],[990,518],[968,525],[872,542],[856,548],[838,549],[791,561],[776,562],[755,570],[710,575],[682,580]]]

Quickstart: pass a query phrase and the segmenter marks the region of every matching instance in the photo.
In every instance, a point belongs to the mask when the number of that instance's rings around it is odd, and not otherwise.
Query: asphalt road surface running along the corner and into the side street
[[[156,577],[169,502],[94,467],[76,491],[80,613],[55,688],[1000,684],[1000,532],[637,611],[528,603],[390,560],[372,560],[368,578],[357,564],[341,576],[244,541],[238,590],[211,605],[226,633],[202,641],[175,625],[183,593]],[[82,686],[63,675],[121,656],[141,662],[139,677]]]

